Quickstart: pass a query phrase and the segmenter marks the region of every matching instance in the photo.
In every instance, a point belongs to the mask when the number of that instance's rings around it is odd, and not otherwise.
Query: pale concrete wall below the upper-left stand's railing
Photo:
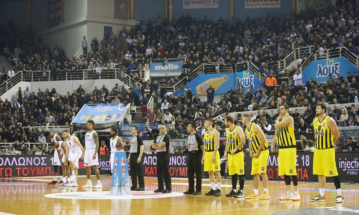
[[[95,86],[98,87],[98,89],[102,88],[102,85],[106,85],[106,88],[111,91],[113,87],[115,87],[116,83],[118,83],[119,86],[123,85],[123,82],[118,79],[106,79],[106,80],[74,80],[74,81],[39,81],[39,82],[19,82],[13,87],[11,87],[10,90],[5,92],[1,95],[1,99],[5,101],[5,99],[9,99],[9,101],[12,101],[15,99],[15,93],[18,91],[19,87],[21,87],[23,90],[26,90],[26,87],[29,87],[29,90],[35,92],[37,94],[38,89],[41,88],[42,91],[45,91],[46,88],[48,88],[50,91],[52,88],[55,88],[56,92],[58,94],[66,94],[67,92],[72,93],[74,90],[77,90],[82,85],[82,88],[85,90],[86,93],[92,92],[93,89],[95,89]],[[129,87],[126,86],[126,89]],[[11,100],[10,100],[11,99]]]

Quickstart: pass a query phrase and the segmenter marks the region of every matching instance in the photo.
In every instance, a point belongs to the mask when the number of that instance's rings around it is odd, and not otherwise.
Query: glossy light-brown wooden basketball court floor
[[[111,176],[102,176],[103,188],[101,191],[109,191]],[[185,195],[167,198],[146,198],[145,194],[140,196],[145,199],[76,199],[78,195],[71,196],[73,199],[57,199],[46,197],[47,194],[69,193],[69,192],[99,192],[97,189],[83,189],[81,186],[86,181],[85,177],[78,178],[79,187],[57,187],[48,186],[46,183],[52,181],[50,177],[29,178],[0,178],[0,215],[1,214],[55,214],[55,215],[80,215],[80,214],[270,214],[274,211],[329,206],[353,206],[359,205],[359,183],[344,183],[342,195],[344,203],[336,204],[335,187],[332,184],[326,186],[327,201],[324,203],[311,203],[310,199],[318,195],[316,182],[303,182],[299,185],[302,200],[299,202],[279,201],[278,198],[285,193],[285,184],[282,182],[270,182],[269,200],[248,200],[244,198],[225,197],[231,189],[230,178],[223,180],[222,196],[205,196],[210,190],[208,179],[202,182],[202,195]],[[95,177],[92,177],[93,183]],[[188,189],[186,178],[172,178],[173,192],[185,192]],[[244,195],[252,192],[252,182],[246,181]],[[146,191],[157,189],[157,178],[145,178]],[[261,185],[261,184],[260,184]],[[238,187],[237,187],[238,189]],[[263,188],[260,187],[260,192]],[[103,192],[105,193],[105,192]],[[139,194],[137,194],[139,195]],[[90,198],[90,197],[89,197]],[[309,209],[308,209],[309,210]],[[307,214],[311,214],[308,212]],[[320,213],[318,213],[320,214]]]

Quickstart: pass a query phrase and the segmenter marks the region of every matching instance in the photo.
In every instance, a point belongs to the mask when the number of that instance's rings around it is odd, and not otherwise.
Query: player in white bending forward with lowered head
[[[65,153],[68,151],[66,149],[66,142],[65,141],[59,141],[59,142],[52,142],[51,147],[54,149],[57,149],[57,155],[59,156],[61,167],[62,167],[62,177],[65,178],[65,181],[62,181],[62,185],[59,183],[57,186],[69,186],[70,183],[70,166],[69,162],[65,162]]]

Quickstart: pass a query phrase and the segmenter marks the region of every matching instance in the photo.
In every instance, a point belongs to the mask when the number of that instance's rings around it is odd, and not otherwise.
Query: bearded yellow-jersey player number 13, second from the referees
[[[242,147],[246,143],[243,129],[241,126],[234,125],[234,118],[231,115],[224,117],[224,124],[226,126],[227,145],[224,150],[224,159],[227,159],[228,151],[228,172],[232,176],[232,190],[227,197],[244,197],[244,157]],[[239,190],[237,191],[237,180],[239,176]]]

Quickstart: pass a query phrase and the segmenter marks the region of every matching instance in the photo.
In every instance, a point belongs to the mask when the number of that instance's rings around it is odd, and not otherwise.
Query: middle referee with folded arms
[[[159,135],[152,144],[152,148],[157,152],[157,179],[158,189],[154,192],[171,193],[171,174],[169,173],[169,143],[171,137],[167,134],[167,125],[163,124],[159,128]],[[166,185],[166,189],[163,187]]]

